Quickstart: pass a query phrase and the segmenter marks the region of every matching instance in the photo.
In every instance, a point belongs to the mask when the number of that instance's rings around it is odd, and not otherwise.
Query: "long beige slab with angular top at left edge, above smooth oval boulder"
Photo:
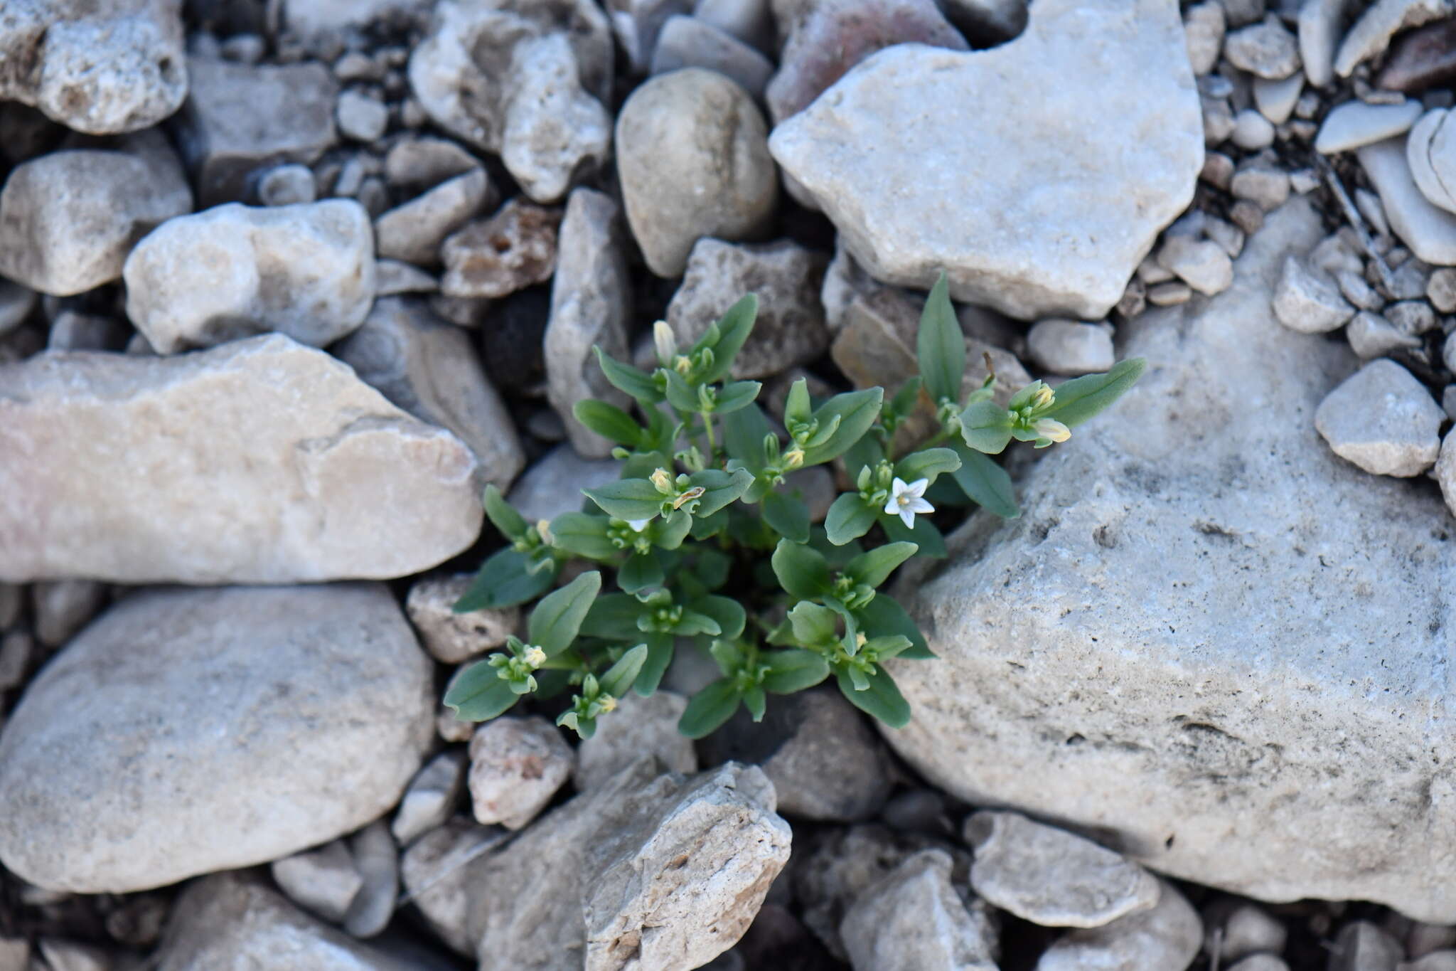
[[[381,579],[480,530],[476,460],[281,335],[0,365],[0,581]]]

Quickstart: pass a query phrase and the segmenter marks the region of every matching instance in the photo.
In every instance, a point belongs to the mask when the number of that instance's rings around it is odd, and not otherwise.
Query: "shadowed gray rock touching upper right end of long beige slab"
[[[383,297],[335,355],[415,418],[448,428],[470,447],[479,475],[510,488],[526,464],[505,402],[466,330],[418,298]]]

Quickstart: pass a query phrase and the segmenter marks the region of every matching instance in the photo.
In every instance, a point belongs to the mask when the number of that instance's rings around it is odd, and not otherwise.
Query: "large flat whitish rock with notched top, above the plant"
[[[1176,3],[1037,0],[989,51],[879,51],[769,150],[875,278],[1095,320],[1192,198],[1203,121]]]

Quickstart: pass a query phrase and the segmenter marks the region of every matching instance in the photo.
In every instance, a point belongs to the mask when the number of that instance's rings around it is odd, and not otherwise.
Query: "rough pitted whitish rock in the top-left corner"
[[[150,128],[188,93],[181,0],[7,0],[0,99],[90,135]]]

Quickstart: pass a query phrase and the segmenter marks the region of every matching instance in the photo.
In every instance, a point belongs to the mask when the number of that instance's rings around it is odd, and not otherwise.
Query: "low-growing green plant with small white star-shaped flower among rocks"
[[[546,595],[526,642],[510,638],[456,678],[444,702],[459,718],[485,721],[527,694],[571,690],[556,721],[590,738],[628,691],[652,694],[674,651],[690,645],[722,674],[683,713],[692,738],[740,705],[761,719],[769,694],[830,675],[855,706],[903,726],[910,706],[884,662],[935,655],[884,587],[911,556],[945,556],[929,515],[968,504],[1018,515],[1010,477],[989,456],[1010,440],[1064,441],[1143,371],[1130,360],[1056,390],[1032,381],[1006,406],[993,400],[994,373],[964,393],[965,342],[942,274],[920,319],[917,377],[888,399],[874,387],[823,402],[801,379],[780,434],[757,405],[760,383],[729,380],[756,314],[757,298],[744,297],[686,351],[658,322],[651,374],[597,348],[638,416],[598,400],[577,405],[577,421],[617,443],[622,460],[620,480],[584,489],[582,511],[531,524],[486,489],[485,511],[510,544],[486,559],[454,610]],[[927,431],[897,454],[911,419]],[[801,476],[833,461],[853,489],[815,526]],[[574,560],[598,569],[546,592]],[[603,569],[614,592],[603,592]]]

